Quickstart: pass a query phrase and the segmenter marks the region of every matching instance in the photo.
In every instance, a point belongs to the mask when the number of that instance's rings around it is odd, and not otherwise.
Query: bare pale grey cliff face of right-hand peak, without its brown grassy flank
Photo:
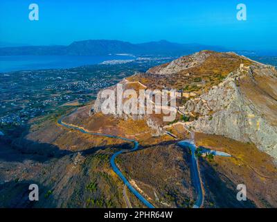
[[[257,108],[255,99],[244,94],[244,79],[253,78],[253,72],[276,76],[272,67],[256,67],[245,74],[238,71],[230,74],[223,83],[202,94],[198,100],[190,100],[185,105],[187,112],[199,115],[198,119],[188,123],[195,131],[207,134],[223,135],[241,142],[251,142],[277,160],[277,127]],[[266,77],[266,76],[265,76]],[[255,78],[253,79],[255,80]],[[251,87],[251,86],[247,86]],[[255,90],[255,89],[253,89]],[[268,100],[273,100],[267,95]],[[203,102],[205,101],[205,103]],[[265,101],[260,101],[264,103]],[[272,112],[276,111],[272,107]],[[262,106],[261,106],[262,107]],[[275,112],[277,118],[277,112]]]

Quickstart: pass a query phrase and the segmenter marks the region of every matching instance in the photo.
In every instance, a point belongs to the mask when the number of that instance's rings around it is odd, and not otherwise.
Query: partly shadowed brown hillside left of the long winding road
[[[109,160],[132,144],[84,135],[49,119],[33,123],[14,144],[1,144],[0,207],[125,207],[123,182]],[[39,185],[39,202],[28,201],[30,183]]]

